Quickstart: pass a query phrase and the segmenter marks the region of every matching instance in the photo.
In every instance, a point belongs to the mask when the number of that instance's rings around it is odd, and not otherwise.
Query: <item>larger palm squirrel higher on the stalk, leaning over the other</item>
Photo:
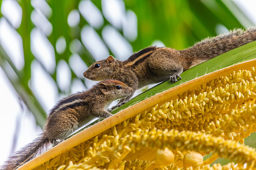
[[[148,47],[132,54],[125,61],[109,56],[105,60],[95,62],[84,72],[84,77],[97,81],[116,79],[132,87],[132,94],[119,100],[113,109],[128,102],[138,88],[168,78],[171,82],[176,82],[177,78],[181,79],[183,70],[255,40],[256,28],[249,28],[246,31],[236,29],[216,37],[208,37],[183,50]]]

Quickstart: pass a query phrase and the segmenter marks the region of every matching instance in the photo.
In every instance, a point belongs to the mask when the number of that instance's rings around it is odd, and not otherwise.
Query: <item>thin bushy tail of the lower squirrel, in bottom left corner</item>
[[[22,147],[19,151],[11,155],[0,168],[1,170],[13,170],[33,159],[37,154],[43,152],[49,145],[49,139],[42,134],[31,143]]]

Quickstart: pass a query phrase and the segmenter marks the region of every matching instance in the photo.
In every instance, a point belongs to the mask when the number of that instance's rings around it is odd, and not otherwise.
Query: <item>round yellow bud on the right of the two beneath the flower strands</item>
[[[200,162],[203,162],[203,156],[198,152],[191,152],[191,154],[186,153],[183,158],[183,166],[184,168],[188,168],[189,166],[194,166]]]

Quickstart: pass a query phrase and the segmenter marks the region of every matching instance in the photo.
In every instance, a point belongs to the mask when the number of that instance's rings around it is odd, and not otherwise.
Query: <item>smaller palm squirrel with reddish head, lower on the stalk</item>
[[[33,159],[50,144],[56,145],[94,117],[111,116],[105,109],[117,99],[131,95],[133,89],[117,80],[104,80],[91,89],[61,99],[50,111],[43,133],[10,156],[0,169],[13,170]],[[59,141],[58,141],[59,140]]]

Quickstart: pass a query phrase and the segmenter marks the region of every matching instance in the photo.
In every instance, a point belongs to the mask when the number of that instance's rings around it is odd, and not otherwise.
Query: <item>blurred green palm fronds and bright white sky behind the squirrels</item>
[[[125,60],[150,45],[183,49],[256,24],[254,0],[1,0],[0,5],[0,165],[42,132],[46,113],[60,98],[95,83],[83,77],[93,62],[108,55]]]

